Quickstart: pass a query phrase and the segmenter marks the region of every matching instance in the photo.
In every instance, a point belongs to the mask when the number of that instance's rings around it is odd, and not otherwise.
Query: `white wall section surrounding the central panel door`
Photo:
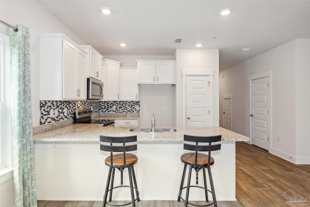
[[[213,76],[213,126],[218,126],[218,49],[177,49],[176,57],[176,126],[182,126],[183,92],[182,70],[212,69]]]

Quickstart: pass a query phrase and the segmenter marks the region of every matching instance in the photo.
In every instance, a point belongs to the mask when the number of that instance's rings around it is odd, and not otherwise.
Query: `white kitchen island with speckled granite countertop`
[[[248,141],[248,137],[222,127],[173,127],[175,132],[162,133],[132,132],[131,128],[76,124],[35,134],[38,200],[102,200],[109,171],[104,159],[109,153],[100,151],[100,135],[137,135],[138,150],[134,154],[138,156],[135,171],[140,199],[176,200],[183,171],[180,157],[186,152],[184,134],[222,135],[221,150],[212,153],[215,191],[217,200],[235,200],[235,142]],[[119,174],[115,171],[115,185]],[[202,172],[199,174],[202,184]],[[125,170],[125,183],[127,176]],[[113,191],[113,199],[130,200],[127,191]],[[191,200],[203,198],[202,190],[191,190]]]

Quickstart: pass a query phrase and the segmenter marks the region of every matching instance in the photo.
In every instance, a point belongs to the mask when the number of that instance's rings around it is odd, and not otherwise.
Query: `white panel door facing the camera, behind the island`
[[[210,127],[212,123],[212,78],[186,77],[186,127]]]

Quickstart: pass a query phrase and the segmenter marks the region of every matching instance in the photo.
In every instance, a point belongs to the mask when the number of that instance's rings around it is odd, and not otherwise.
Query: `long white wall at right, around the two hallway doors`
[[[301,41],[298,46],[298,41]],[[224,74],[224,78],[220,78],[220,110],[219,114],[223,112],[222,96],[226,94],[233,95],[233,110],[232,110],[232,129],[235,132],[250,136],[249,134],[249,91],[248,91],[248,76],[259,74],[265,71],[272,71],[271,80],[271,148],[269,152],[287,159],[292,162],[296,162],[298,159],[297,154],[305,154],[309,157],[309,144],[303,145],[307,139],[304,130],[307,125],[305,118],[302,118],[302,111],[298,104],[304,103],[304,100],[309,101],[309,96],[306,96],[309,92],[306,86],[309,87],[309,83],[306,78],[303,78],[301,82],[300,76],[304,76],[309,73],[309,62],[305,62],[309,59],[309,46],[304,45],[304,41],[309,40],[293,40],[278,48],[269,50],[261,55],[258,55],[248,61],[241,64],[237,64],[231,68],[228,68],[220,72],[221,77]],[[301,47],[303,45],[304,48]],[[303,58],[297,60],[298,49],[300,53],[304,54]],[[307,60],[308,60],[307,59]],[[296,73],[297,65],[300,67],[300,73]],[[307,76],[306,76],[307,77]],[[298,93],[296,93],[298,91]],[[298,95],[299,94],[299,95]],[[302,96],[303,99],[298,98]],[[296,98],[298,99],[296,101]],[[298,115],[300,110],[300,115]],[[222,126],[222,116],[220,116],[220,126]],[[298,143],[297,136],[301,132],[297,123],[305,122],[301,125],[303,128],[302,143]],[[309,123],[309,122],[308,122]],[[297,132],[298,130],[298,132]],[[280,141],[277,141],[276,137],[280,136]],[[309,139],[307,139],[309,142]],[[296,144],[303,145],[303,148]],[[307,150],[306,150],[307,148]],[[306,152],[307,151],[307,152]],[[298,152],[298,153],[297,153]],[[302,153],[304,152],[304,153]],[[292,157],[292,158],[289,158]],[[309,162],[310,163],[310,162]]]

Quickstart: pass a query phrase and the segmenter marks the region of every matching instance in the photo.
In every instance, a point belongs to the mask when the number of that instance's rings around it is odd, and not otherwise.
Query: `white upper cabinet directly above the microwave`
[[[87,54],[87,77],[103,81],[103,68],[102,58],[103,56],[90,45],[80,45]]]

